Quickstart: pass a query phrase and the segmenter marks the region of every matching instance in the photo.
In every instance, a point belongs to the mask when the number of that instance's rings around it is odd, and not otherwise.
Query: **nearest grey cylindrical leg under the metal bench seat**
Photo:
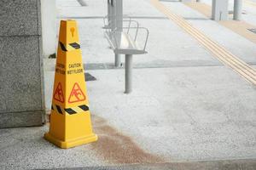
[[[125,55],[125,94],[131,93],[132,87],[132,55]]]

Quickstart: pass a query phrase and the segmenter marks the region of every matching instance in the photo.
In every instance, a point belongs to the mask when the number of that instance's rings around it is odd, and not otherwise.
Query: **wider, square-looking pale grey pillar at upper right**
[[[212,0],[212,20],[228,20],[228,0]]]

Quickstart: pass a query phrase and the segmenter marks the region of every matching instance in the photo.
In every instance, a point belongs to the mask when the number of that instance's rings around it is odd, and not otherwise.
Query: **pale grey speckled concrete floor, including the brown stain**
[[[1,129],[0,169],[255,167],[255,86],[222,65],[148,0],[125,0],[125,14],[148,27],[150,38],[148,54],[134,56],[139,66],[133,72],[133,92],[124,94],[124,70],[99,66],[113,63],[99,18],[107,14],[107,6],[101,0],[86,3],[81,7],[75,0],[58,1],[60,17],[79,18],[84,63],[95,65],[86,72],[97,79],[87,82],[87,88],[98,142],[61,150],[43,139],[48,125]],[[191,20],[203,16],[182,3],[163,3],[248,64],[256,63],[255,43],[211,20]],[[49,110],[55,59],[44,64]],[[224,160],[234,161],[229,166]],[[190,161],[210,163],[173,164]]]

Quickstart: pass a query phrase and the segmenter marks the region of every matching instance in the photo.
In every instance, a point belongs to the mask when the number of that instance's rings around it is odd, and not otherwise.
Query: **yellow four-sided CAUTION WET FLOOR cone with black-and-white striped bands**
[[[75,20],[61,20],[49,133],[44,138],[61,148],[96,141],[88,105],[78,27]]]

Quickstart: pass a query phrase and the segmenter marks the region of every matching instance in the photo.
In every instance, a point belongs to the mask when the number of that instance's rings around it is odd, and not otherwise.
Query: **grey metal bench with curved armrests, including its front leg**
[[[106,21],[108,16],[104,18],[104,35],[107,38],[110,47],[113,49],[114,54],[125,54],[125,94],[131,93],[132,81],[132,55],[133,54],[147,54],[146,46],[148,43],[149,31],[145,27],[140,27],[136,20],[121,20],[127,22],[125,27],[115,27],[113,29],[111,21]],[[131,27],[131,23],[135,23],[135,27]],[[122,24],[124,26],[124,24]],[[125,31],[126,30],[126,31]],[[132,37],[130,32],[135,31]],[[145,32],[145,40],[143,44],[137,41],[140,32]]]

